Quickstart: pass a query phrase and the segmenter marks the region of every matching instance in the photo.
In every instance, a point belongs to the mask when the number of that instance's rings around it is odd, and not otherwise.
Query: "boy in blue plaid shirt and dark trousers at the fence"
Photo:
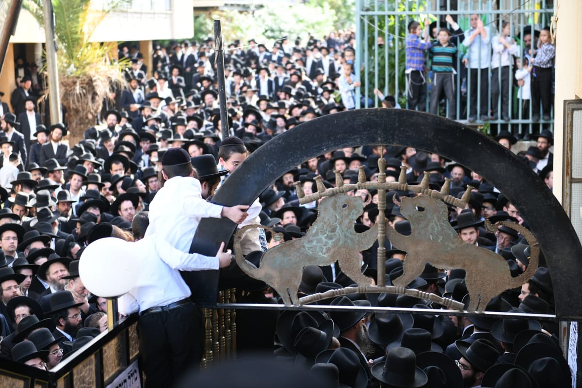
[[[425,52],[431,48],[428,34],[430,20],[424,20],[424,41],[420,39],[423,27],[418,22],[410,22],[406,37],[406,74],[408,80],[408,109],[426,111],[427,87],[424,76]]]

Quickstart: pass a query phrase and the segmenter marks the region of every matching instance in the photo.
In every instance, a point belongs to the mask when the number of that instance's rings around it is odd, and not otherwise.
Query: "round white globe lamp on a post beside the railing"
[[[139,275],[135,244],[105,237],[87,245],[79,259],[79,276],[91,294],[119,297],[135,286]]]

